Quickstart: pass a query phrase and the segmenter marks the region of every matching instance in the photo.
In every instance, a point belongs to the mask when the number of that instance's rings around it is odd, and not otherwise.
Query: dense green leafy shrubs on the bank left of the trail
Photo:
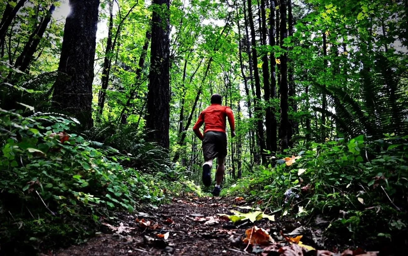
[[[0,111],[2,249],[81,242],[112,217],[111,209],[160,200],[137,170],[118,163],[126,156],[65,133],[74,119]]]

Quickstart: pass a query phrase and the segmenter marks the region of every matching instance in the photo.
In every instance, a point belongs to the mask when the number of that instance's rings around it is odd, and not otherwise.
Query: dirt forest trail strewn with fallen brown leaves
[[[290,244],[280,235],[300,235],[303,233],[304,244],[322,248],[324,239],[319,229],[304,228],[294,220],[276,219],[271,221],[262,218],[255,224],[246,220],[233,224],[220,214],[231,215],[231,210],[251,212],[249,203],[242,198],[184,198],[173,199],[168,205],[159,209],[146,210],[133,215],[125,215],[118,227],[107,224],[112,234],[100,234],[87,243],[62,249],[49,256],[124,256],[124,255],[243,255],[258,254],[262,256],[347,256],[370,255],[362,250],[353,252],[346,250],[343,254],[329,251],[309,251],[296,244]],[[257,209],[259,210],[259,209]],[[143,219],[143,220],[142,220]],[[142,220],[142,221],[141,221]],[[321,220],[322,221],[322,220]],[[327,222],[326,222],[327,223]],[[148,227],[146,228],[146,225]],[[256,225],[269,234],[273,242],[263,246],[252,246],[242,240],[246,230]],[[252,238],[255,238],[255,233]],[[164,236],[164,238],[163,238]],[[264,239],[258,236],[259,239]],[[286,237],[286,240],[288,237]],[[296,239],[296,238],[295,238]],[[336,250],[336,246],[330,245]],[[281,250],[279,251],[279,248]],[[42,254],[44,256],[44,254]]]

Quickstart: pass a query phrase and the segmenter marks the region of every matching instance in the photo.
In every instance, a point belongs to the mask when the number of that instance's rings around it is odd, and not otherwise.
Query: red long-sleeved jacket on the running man
[[[208,131],[213,132],[225,132],[226,128],[226,117],[228,117],[228,122],[230,124],[231,130],[235,130],[234,115],[230,107],[221,106],[220,104],[211,104],[206,109],[204,109],[197,122],[193,127],[193,131],[197,137],[201,140],[204,138],[200,132],[200,127],[204,124],[204,133]]]

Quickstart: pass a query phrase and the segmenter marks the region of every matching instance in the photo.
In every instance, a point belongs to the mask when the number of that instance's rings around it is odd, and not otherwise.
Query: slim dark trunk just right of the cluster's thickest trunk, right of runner
[[[293,36],[293,15],[292,15],[292,0],[288,0],[288,34],[289,36]],[[289,49],[291,50],[292,47]],[[288,58],[288,85],[289,85],[289,90],[288,90],[288,95],[289,95],[289,106],[292,108],[293,113],[297,112],[297,103],[295,100],[296,96],[296,88],[295,88],[295,79],[293,78],[293,61]],[[290,118],[290,125],[291,129],[289,130],[290,135],[289,138],[292,138],[293,135],[297,134],[299,132],[299,124],[295,117],[292,115]],[[293,141],[289,141],[289,146],[293,145]]]

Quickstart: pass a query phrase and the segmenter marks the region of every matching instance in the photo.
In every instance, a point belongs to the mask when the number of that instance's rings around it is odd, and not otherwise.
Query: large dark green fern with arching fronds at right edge
[[[336,128],[350,137],[408,133],[406,82],[399,79],[386,57],[377,55],[373,70],[360,72],[359,88],[360,99],[355,99],[342,88],[321,86],[336,111],[314,109],[333,117]]]

